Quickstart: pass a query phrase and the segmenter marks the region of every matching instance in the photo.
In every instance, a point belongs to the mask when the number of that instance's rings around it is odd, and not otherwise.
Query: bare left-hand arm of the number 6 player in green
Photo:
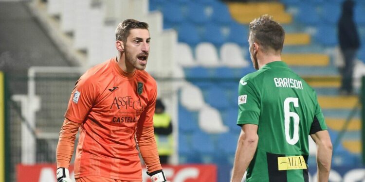
[[[253,159],[258,142],[257,125],[244,124],[237,142],[231,182],[241,182],[243,174]]]

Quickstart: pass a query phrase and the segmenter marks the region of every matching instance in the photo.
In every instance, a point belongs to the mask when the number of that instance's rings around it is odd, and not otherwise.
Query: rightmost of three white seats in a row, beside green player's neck
[[[249,65],[243,59],[241,48],[236,43],[225,43],[220,48],[222,65],[230,67],[246,67]]]

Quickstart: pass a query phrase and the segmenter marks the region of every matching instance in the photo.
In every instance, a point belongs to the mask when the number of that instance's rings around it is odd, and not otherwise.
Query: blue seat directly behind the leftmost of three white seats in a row
[[[179,26],[179,42],[184,42],[190,45],[190,47],[194,47],[197,45],[201,39],[198,33],[198,30],[193,24],[190,23],[182,23]]]

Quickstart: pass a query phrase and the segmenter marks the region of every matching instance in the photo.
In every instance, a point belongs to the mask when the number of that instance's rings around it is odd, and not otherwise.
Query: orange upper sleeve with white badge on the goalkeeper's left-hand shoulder
[[[71,93],[65,117],[82,123],[97,97],[97,85],[90,77],[81,76]]]

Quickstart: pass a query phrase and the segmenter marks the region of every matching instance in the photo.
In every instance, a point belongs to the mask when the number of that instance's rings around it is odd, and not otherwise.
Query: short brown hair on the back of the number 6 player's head
[[[283,49],[285,31],[272,16],[262,15],[251,21],[250,35],[252,41],[259,43],[264,50],[268,47],[275,51]]]

